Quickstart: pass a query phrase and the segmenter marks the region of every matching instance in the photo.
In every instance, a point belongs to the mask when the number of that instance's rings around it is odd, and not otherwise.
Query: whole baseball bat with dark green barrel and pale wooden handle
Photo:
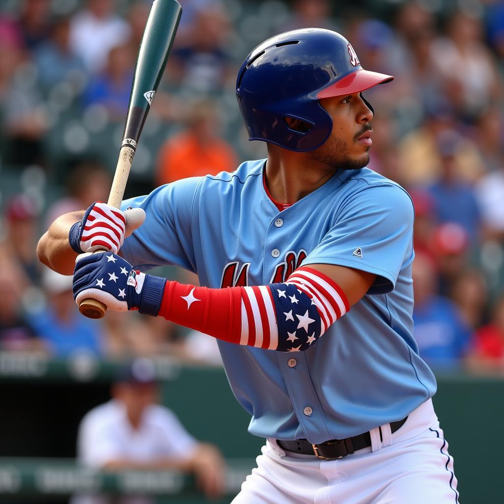
[[[124,124],[108,205],[120,208],[145,119],[166,67],[182,8],[177,0],[154,0],[140,42],[130,104]],[[96,250],[95,253],[103,250]],[[81,301],[79,311],[90,319],[101,319],[107,307],[96,299]]]

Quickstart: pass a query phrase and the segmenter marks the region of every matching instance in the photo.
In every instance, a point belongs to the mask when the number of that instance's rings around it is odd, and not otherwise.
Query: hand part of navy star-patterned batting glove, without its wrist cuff
[[[101,301],[110,310],[128,311],[140,306],[141,295],[135,287],[137,277],[128,261],[112,253],[81,254],[74,270],[74,299],[79,305],[83,299]],[[141,288],[140,288],[141,291]]]

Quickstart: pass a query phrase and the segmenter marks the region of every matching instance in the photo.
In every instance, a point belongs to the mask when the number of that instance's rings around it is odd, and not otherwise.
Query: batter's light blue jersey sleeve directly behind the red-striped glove
[[[124,200],[121,210],[143,208],[145,222],[124,240],[121,254],[135,268],[175,265],[196,273],[194,202],[202,177],[177,180],[148,196]]]

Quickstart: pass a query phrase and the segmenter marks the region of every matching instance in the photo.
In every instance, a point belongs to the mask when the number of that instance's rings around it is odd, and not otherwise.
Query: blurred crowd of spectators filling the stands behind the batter
[[[237,69],[267,36],[335,29],[395,81],[374,107],[369,167],[416,211],[415,338],[434,368],[504,371],[504,4],[179,0],[183,14],[127,196],[265,156],[247,142]],[[61,213],[106,201],[150,2],[0,6],[0,349],[171,354],[218,364],[205,335],[137,315],[83,318],[35,245]],[[166,267],[158,274],[189,279]]]

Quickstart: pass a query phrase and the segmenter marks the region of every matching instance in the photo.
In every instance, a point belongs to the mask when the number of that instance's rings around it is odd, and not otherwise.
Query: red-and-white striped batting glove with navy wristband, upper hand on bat
[[[142,208],[129,208],[125,212],[97,201],[76,222],[69,234],[72,248],[78,252],[92,252],[103,248],[117,254],[124,242],[145,220]]]

